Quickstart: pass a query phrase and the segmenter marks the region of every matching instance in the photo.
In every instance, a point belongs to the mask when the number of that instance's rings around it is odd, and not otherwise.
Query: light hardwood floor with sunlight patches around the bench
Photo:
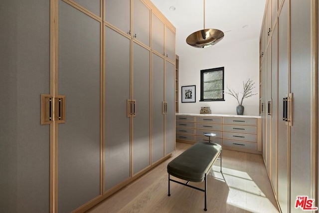
[[[88,213],[204,213],[203,192],[171,182],[167,196],[167,164],[190,146],[176,143],[171,158]],[[279,212],[261,155],[224,149],[222,157],[226,183],[216,161],[207,177],[207,213]],[[191,185],[204,188],[204,182]]]

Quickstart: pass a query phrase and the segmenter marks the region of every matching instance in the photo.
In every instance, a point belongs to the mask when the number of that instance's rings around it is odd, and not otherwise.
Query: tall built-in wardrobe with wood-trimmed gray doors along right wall
[[[263,158],[283,213],[318,206],[318,1],[267,0],[260,37]]]

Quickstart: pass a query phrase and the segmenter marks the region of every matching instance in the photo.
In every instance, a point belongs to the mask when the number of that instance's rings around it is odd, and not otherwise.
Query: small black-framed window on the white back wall
[[[200,101],[224,101],[224,67],[200,70]]]

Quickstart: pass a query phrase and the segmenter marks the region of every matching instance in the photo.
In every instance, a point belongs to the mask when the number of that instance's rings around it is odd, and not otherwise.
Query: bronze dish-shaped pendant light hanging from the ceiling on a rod
[[[205,29],[205,0],[204,0],[204,29],[191,33],[186,38],[186,43],[193,47],[205,48],[216,44],[224,37],[219,29]]]

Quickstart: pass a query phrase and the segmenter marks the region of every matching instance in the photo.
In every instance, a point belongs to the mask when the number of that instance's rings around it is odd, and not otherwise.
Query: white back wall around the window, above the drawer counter
[[[194,47],[192,47],[194,48]],[[244,115],[259,115],[259,40],[249,40],[231,45],[196,49],[195,54],[179,55],[179,113],[199,113],[200,107],[209,106],[212,114],[236,114],[237,100],[225,94],[225,101],[199,101],[200,70],[225,67],[224,86],[243,91],[243,81],[255,82],[252,97],[244,99]],[[181,86],[196,85],[196,102],[181,103]]]

